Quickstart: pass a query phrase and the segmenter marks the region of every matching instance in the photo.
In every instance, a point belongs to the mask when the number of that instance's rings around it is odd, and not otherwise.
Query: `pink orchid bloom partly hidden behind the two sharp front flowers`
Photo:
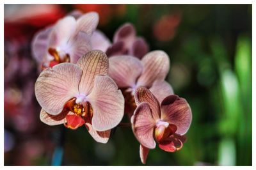
[[[141,60],[133,56],[109,58],[109,76],[122,89],[125,97],[125,112],[133,114],[136,109],[134,93],[139,86],[145,86],[159,102],[173,94],[173,89],[164,81],[170,68],[168,55],[155,50],[148,52]]]

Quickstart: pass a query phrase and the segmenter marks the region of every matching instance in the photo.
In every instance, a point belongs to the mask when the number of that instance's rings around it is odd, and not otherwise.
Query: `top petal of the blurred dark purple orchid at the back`
[[[127,23],[117,29],[113,38],[113,43],[124,42],[125,49],[129,49],[132,47],[132,43],[134,42],[135,38],[136,31],[134,26],[130,23]]]

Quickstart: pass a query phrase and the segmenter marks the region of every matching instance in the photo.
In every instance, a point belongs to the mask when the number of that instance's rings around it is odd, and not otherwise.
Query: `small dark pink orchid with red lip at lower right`
[[[140,158],[145,164],[148,151],[156,147],[164,151],[180,150],[192,120],[188,102],[177,95],[164,98],[161,105],[145,87],[135,91],[136,110],[131,118],[132,130],[140,142]]]

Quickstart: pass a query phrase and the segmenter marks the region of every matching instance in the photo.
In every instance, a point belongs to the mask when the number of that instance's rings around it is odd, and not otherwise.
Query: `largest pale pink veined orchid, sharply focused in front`
[[[85,125],[96,141],[106,143],[110,129],[124,116],[124,97],[108,76],[108,66],[106,54],[92,50],[76,65],[60,63],[45,69],[35,83],[40,120],[72,129]]]

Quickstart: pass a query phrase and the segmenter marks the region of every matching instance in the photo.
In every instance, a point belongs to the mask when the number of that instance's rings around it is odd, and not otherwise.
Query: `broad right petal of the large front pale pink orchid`
[[[87,98],[93,109],[93,129],[109,130],[120,123],[124,116],[124,97],[108,75],[95,77],[93,91]]]

